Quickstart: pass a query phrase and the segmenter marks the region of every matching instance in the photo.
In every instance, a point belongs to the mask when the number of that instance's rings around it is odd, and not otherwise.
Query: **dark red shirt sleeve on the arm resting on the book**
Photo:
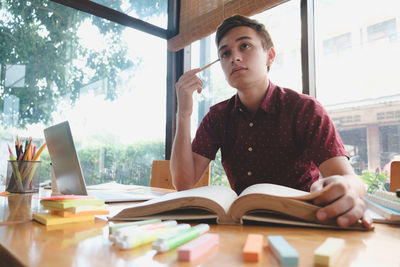
[[[307,99],[298,107],[296,136],[301,138],[299,141],[304,144],[307,157],[317,166],[333,157],[349,158],[333,121],[322,105],[315,99]]]

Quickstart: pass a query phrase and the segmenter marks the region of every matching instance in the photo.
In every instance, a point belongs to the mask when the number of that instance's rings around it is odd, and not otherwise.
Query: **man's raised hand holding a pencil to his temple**
[[[191,116],[193,112],[193,92],[203,90],[203,81],[197,77],[199,68],[185,72],[175,84],[178,99],[178,115]]]

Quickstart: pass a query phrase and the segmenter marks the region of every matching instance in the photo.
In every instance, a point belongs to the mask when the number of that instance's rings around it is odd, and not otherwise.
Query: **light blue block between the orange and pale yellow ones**
[[[274,255],[283,266],[296,266],[299,264],[299,253],[280,235],[267,237],[269,246]]]

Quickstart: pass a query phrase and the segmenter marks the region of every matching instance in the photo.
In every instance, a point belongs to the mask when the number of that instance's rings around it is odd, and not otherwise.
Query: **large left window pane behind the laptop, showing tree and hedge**
[[[68,120],[87,184],[148,185],[165,158],[166,41],[51,1],[3,1],[0,17],[3,151]]]

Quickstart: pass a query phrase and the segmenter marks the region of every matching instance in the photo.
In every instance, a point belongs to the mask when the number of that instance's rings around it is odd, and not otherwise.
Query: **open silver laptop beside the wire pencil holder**
[[[58,191],[64,195],[89,195],[106,203],[143,201],[160,196],[151,190],[87,190],[68,121],[44,129]]]

